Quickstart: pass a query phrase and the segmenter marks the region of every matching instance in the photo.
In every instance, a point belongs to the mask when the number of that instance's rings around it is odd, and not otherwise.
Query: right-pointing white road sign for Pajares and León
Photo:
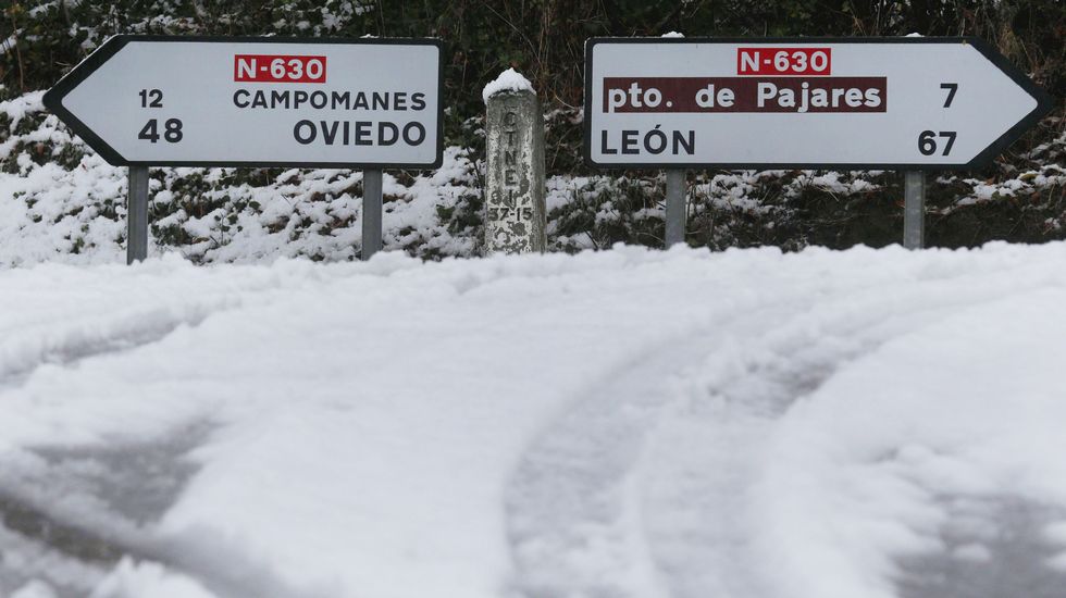
[[[603,38],[585,60],[600,167],[978,167],[1052,107],[978,38]]]

